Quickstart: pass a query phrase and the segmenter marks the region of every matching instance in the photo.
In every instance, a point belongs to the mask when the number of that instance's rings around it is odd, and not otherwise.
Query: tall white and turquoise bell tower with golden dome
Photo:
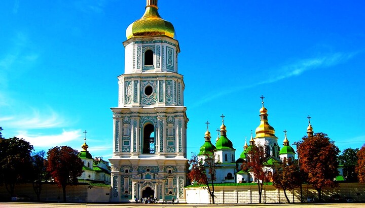
[[[118,76],[111,201],[142,197],[185,202],[187,123],[179,43],[173,25],[147,0],[143,16],[126,30],[125,71]]]

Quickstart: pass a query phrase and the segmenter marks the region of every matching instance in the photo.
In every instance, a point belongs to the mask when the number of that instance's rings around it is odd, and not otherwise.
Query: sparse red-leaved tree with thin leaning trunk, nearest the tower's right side
[[[197,182],[198,184],[205,184],[208,187],[208,192],[214,202],[214,180],[216,163],[214,161],[214,151],[206,152],[204,155],[205,160],[199,160],[195,153],[192,153],[192,157],[189,160],[191,170],[188,173],[188,178],[191,181]],[[210,186],[211,185],[211,189]]]

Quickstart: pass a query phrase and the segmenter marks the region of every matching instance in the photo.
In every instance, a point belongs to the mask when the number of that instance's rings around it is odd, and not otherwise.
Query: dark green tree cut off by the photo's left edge
[[[0,138],[0,182],[11,196],[16,184],[29,180],[32,150],[33,146],[23,139]]]

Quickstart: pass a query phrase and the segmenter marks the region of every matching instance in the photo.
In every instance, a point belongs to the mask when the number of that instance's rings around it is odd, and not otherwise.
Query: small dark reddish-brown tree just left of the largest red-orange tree
[[[282,189],[284,191],[286,201],[290,203],[290,200],[286,195],[286,190],[294,190],[294,188],[300,186],[302,181],[298,169],[298,161],[291,161],[291,159],[284,160],[276,167],[273,179],[273,185],[277,189]]]

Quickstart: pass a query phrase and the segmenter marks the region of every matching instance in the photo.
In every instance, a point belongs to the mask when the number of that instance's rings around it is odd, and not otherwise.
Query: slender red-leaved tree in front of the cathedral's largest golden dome
[[[249,170],[249,172],[253,175],[255,182],[259,187],[259,203],[261,203],[262,190],[264,188],[264,182],[268,182],[270,180],[269,172],[271,173],[272,167],[269,164],[265,164],[269,159],[266,156],[264,146],[250,145],[246,149],[247,152],[247,162],[242,164],[242,170]]]

